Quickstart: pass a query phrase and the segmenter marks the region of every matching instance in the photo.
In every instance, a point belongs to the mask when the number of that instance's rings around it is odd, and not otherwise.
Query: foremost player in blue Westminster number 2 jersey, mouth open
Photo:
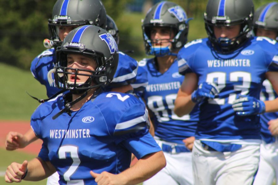
[[[57,170],[60,184],[136,184],[166,165],[148,132],[144,104],[132,95],[102,92],[117,64],[116,41],[104,29],[85,25],[65,37],[57,47],[54,78],[70,92],[33,113],[31,126],[42,149],[31,161],[12,163],[6,182],[40,180]],[[139,161],[128,168],[131,152]]]

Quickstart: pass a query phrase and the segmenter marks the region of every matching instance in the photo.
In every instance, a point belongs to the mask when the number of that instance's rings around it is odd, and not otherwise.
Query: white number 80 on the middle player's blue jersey
[[[190,120],[189,114],[184,115],[183,117],[178,117],[174,113],[174,101],[177,98],[177,94],[169,94],[165,96],[166,105],[163,104],[162,96],[151,96],[148,97],[148,107],[154,112],[159,122],[170,121],[170,118],[173,120]],[[169,115],[168,109],[171,110],[171,114]],[[160,116],[162,115],[162,116]]]

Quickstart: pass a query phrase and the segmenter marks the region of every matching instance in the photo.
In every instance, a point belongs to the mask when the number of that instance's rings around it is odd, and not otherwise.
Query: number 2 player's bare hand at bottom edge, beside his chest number
[[[97,174],[93,171],[90,171],[90,174],[92,177],[95,178],[95,182],[98,183],[98,185],[122,185],[123,180],[119,178],[118,175],[109,173],[107,171],[103,171],[100,174]]]

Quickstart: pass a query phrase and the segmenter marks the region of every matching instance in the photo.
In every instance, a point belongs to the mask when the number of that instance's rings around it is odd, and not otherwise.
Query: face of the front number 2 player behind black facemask
[[[67,63],[68,68],[86,69],[91,71],[95,71],[95,69],[97,68],[97,63],[93,58],[80,55],[80,54],[68,54],[67,61],[68,61]],[[73,71],[69,70],[69,72],[73,72]],[[85,72],[85,71],[78,71],[78,73],[91,75],[91,72]],[[68,80],[70,82],[74,82],[74,78],[75,75],[72,74],[68,75]],[[88,78],[89,78],[88,76],[77,75],[76,82],[77,83],[86,82]]]

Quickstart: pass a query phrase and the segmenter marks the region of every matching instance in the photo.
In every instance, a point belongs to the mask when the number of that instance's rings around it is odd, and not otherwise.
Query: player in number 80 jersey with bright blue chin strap
[[[154,55],[139,62],[139,69],[143,68],[148,74],[142,98],[152,115],[154,138],[167,161],[166,167],[144,185],[193,184],[191,151],[183,140],[194,136],[197,106],[195,112],[183,117],[173,112],[174,100],[183,81],[176,58],[187,42],[188,20],[182,7],[162,1],[151,7],[142,24],[146,54]]]

